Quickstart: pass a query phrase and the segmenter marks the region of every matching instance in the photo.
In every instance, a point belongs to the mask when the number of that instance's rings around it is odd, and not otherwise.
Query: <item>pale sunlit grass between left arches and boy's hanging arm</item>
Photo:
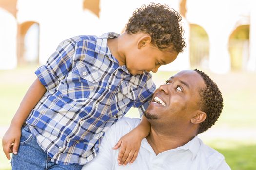
[[[34,71],[37,66],[18,68],[15,70],[0,70],[0,126],[9,125],[19,104],[36,79]]]

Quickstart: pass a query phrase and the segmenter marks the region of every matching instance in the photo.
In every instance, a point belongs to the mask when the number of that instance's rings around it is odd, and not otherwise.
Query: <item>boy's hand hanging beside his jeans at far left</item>
[[[10,153],[17,154],[20,144],[21,129],[16,127],[9,127],[2,138],[3,151],[10,160]]]

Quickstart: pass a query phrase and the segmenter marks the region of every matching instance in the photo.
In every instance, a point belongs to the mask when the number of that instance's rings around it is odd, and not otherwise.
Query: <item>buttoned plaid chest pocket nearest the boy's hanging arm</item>
[[[76,102],[86,102],[95,93],[100,78],[101,74],[97,68],[79,64],[68,75],[61,92]]]

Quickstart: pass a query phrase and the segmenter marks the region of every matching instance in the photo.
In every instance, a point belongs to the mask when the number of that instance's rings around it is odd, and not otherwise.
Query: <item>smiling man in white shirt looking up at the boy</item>
[[[155,91],[144,113],[151,131],[136,160],[119,166],[118,150],[112,149],[140,122],[123,118],[106,132],[98,156],[82,170],[230,170],[222,154],[197,138],[217,121],[222,108],[222,94],[205,73],[181,71]]]

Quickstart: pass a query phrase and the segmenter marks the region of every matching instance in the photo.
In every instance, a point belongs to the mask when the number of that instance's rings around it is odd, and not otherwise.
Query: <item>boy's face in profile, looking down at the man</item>
[[[171,63],[177,55],[175,51],[161,51],[146,43],[143,47],[131,49],[126,54],[126,67],[132,75],[143,74],[143,71],[156,73],[161,65]]]

